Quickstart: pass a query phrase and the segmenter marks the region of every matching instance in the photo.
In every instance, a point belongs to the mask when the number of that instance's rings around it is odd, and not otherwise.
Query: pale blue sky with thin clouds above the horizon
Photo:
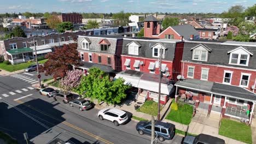
[[[0,13],[19,13],[30,11],[44,13],[117,13],[125,12],[154,13],[222,13],[232,5],[252,6],[255,0],[0,0]]]

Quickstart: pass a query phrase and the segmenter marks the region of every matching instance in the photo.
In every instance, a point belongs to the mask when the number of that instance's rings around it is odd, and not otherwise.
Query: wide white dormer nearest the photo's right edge
[[[228,53],[230,53],[229,64],[245,66],[248,66],[249,57],[250,55],[253,55],[253,53],[249,52],[242,46],[234,50],[228,51]]]

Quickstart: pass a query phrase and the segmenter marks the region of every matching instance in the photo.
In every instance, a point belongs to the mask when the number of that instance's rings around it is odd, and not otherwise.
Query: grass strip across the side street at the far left
[[[44,64],[48,59],[44,59],[42,61],[38,61],[38,63],[40,64]],[[4,64],[4,63],[0,63],[0,69],[3,70],[7,70],[10,72],[16,71],[16,70],[21,70],[21,69],[26,69],[28,66],[32,65],[32,64],[36,64],[35,62],[26,62],[26,63],[19,63],[19,64]]]

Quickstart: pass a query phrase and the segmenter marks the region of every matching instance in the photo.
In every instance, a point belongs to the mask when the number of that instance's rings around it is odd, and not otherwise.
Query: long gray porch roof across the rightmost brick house
[[[222,95],[231,98],[256,101],[256,94],[248,91],[245,88],[225,85],[217,82],[187,79],[184,81],[176,82],[174,86]]]

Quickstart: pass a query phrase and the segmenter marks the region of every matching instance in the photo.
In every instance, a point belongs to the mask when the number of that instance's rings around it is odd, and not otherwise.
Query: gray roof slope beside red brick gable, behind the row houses
[[[176,31],[179,35],[182,35],[184,39],[190,39],[190,35],[199,35],[199,32],[191,25],[181,25],[181,26],[172,26],[174,31]]]

